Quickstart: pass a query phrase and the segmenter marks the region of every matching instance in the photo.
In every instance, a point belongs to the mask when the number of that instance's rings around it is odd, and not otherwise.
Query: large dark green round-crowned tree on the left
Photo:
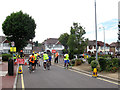
[[[23,49],[35,37],[34,19],[22,11],[12,13],[2,24],[3,33],[9,41],[14,41],[17,51]]]

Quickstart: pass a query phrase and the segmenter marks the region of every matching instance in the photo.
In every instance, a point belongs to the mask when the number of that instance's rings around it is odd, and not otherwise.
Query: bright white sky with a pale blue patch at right
[[[96,0],[97,40],[110,44],[118,39],[118,2],[120,0]],[[85,27],[84,37],[95,40],[94,0],[1,0],[0,35],[2,23],[13,12],[22,10],[35,20],[35,38],[39,43],[47,38],[59,38],[70,34],[73,22]],[[101,27],[101,29],[100,29]],[[103,28],[104,27],[104,28]]]

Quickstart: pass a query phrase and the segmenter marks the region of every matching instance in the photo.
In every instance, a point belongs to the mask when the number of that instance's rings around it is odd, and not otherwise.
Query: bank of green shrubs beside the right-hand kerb
[[[95,60],[95,57],[90,57],[86,61],[89,66],[91,66],[90,71],[93,71],[94,68],[97,68],[98,72],[110,72],[115,73],[120,68],[120,59],[111,58],[108,55],[99,56],[98,62]],[[85,63],[81,59],[71,60],[72,66],[80,66]]]

